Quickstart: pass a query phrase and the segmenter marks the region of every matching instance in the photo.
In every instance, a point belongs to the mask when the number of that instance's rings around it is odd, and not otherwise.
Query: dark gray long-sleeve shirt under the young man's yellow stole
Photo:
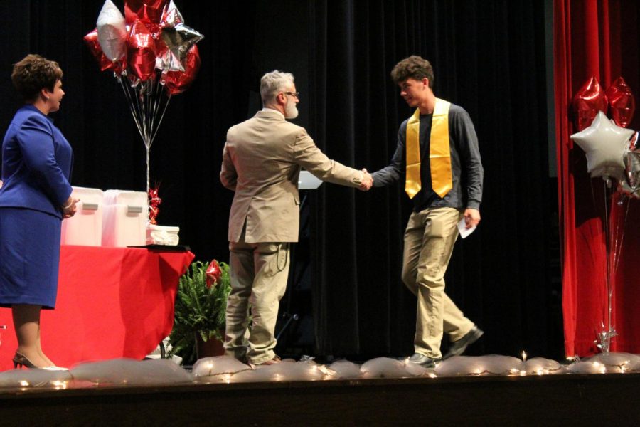
[[[427,208],[451,207],[456,209],[480,209],[482,201],[482,179],[484,170],[478,149],[478,137],[471,117],[464,108],[452,104],[449,107],[449,150],[453,188],[440,198],[431,187],[429,144],[431,139],[432,114],[420,115],[420,181],[422,189],[412,199],[414,211]],[[400,180],[404,184],[407,171],[405,139],[407,122],[398,130],[398,147],[388,167],[374,172],[373,186],[388,186]]]

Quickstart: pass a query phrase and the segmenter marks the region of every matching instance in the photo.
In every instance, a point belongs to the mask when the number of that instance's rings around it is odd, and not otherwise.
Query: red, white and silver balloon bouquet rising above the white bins
[[[196,43],[202,38],[184,24],[173,0],[124,0],[124,16],[106,0],[95,30],[85,36],[100,70],[112,70],[127,97],[146,149],[147,194],[151,144],[171,96],[185,91],[196,78]]]

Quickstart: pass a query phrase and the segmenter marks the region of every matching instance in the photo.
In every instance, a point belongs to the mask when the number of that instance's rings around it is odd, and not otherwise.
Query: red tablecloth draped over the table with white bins
[[[47,356],[63,367],[78,362],[142,359],[174,325],[178,278],[191,252],[62,246],[55,310],[42,310]],[[0,371],[13,368],[17,342],[11,309],[0,308]]]

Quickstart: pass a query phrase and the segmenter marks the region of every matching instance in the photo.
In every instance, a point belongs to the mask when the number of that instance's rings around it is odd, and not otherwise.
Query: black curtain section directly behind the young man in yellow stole
[[[313,1],[309,26],[311,135],[356,167],[387,165],[411,113],[393,65],[411,54],[432,62],[436,95],[474,120],[485,168],[481,226],[457,243],[447,273],[449,295],[487,332],[471,354],[560,356],[542,2]],[[402,186],[324,186],[315,202],[319,352],[410,354],[416,305],[400,280],[411,209]]]

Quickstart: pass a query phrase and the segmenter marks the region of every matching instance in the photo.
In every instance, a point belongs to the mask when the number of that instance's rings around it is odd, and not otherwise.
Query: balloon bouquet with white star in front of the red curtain
[[[612,120],[605,112],[610,105]],[[607,191],[604,199],[604,235],[607,236],[607,327],[598,333],[597,347],[609,352],[612,337],[616,335],[612,325],[612,278],[617,271],[624,237],[624,224],[629,211],[629,198],[640,199],[640,140],[639,132],[626,129],[636,109],[634,95],[622,77],[612,83],[606,93],[596,78],[592,77],[573,98],[573,110],[579,132],[571,135],[587,155],[587,172],[601,176],[607,189],[617,181],[616,199],[619,206],[626,204],[622,221],[616,221],[616,230],[609,230]],[[622,226],[621,226],[622,223]],[[610,255],[613,255],[613,259]]]

